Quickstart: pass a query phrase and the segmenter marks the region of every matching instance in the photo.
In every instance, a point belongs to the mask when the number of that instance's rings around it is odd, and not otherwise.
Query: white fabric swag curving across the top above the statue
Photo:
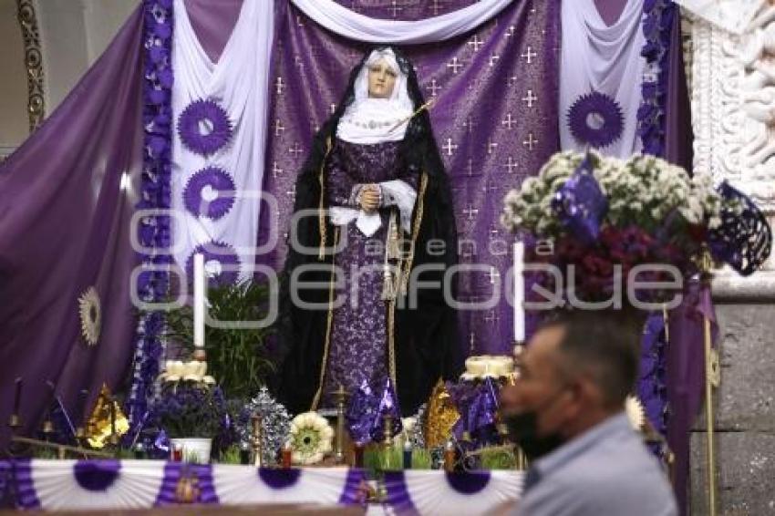
[[[291,0],[305,15],[339,36],[368,43],[398,44],[433,43],[460,36],[490,20],[512,1],[481,0],[446,15],[404,21],[361,15],[334,0]]]

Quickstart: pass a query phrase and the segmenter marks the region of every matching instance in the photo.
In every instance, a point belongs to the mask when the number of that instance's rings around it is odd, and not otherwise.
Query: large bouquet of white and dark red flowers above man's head
[[[628,160],[586,154],[555,154],[538,177],[508,193],[501,222],[526,233],[526,259],[575,267],[575,294],[585,301],[608,299],[615,266],[623,278],[639,264],[675,265],[697,272],[697,258],[725,211],[742,211],[722,197],[710,178],[648,155]],[[537,252],[540,242],[550,253]],[[660,281],[659,273],[639,275]],[[551,278],[539,279],[552,283]],[[656,293],[658,295],[658,293]]]

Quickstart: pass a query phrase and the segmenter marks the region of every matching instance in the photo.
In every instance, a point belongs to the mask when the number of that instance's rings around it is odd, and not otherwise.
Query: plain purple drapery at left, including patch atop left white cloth
[[[186,0],[191,23],[217,58],[242,0],[217,15]],[[105,54],[46,123],[0,164],[0,448],[23,377],[22,432],[52,399],[48,380],[78,421],[105,382],[125,387],[134,353],[129,241],[142,166],[142,14],[136,10]],[[123,174],[129,190],[120,190]],[[78,296],[95,285],[102,306],[98,346],[79,336]]]

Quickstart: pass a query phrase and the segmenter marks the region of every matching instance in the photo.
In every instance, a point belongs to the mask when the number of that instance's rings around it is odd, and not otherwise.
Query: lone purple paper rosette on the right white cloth
[[[592,91],[573,102],[568,109],[568,127],[581,145],[602,149],[622,137],[625,116],[622,107],[599,91]]]

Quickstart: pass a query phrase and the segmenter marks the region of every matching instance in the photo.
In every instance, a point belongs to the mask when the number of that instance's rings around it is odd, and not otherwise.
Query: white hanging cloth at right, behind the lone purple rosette
[[[560,67],[560,143],[563,150],[584,150],[571,134],[568,110],[582,95],[597,91],[614,98],[623,110],[624,131],[607,155],[627,158],[642,149],[637,134],[637,109],[646,59],[641,20],[643,0],[629,0],[619,19],[607,26],[594,0],[573,0],[562,6],[562,60]]]

